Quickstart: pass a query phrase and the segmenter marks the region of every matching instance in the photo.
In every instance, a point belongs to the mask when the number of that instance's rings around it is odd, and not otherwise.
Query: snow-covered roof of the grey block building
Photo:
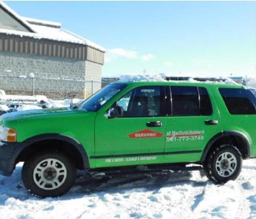
[[[8,7],[8,5],[3,3],[3,1],[0,2],[0,6],[5,12],[28,30],[28,32],[26,32],[0,28],[0,33],[18,35],[20,37],[32,37],[35,39],[49,39],[60,42],[78,43],[93,47],[94,49],[102,52],[106,51],[102,46],[70,31],[62,29],[61,23],[22,17]]]

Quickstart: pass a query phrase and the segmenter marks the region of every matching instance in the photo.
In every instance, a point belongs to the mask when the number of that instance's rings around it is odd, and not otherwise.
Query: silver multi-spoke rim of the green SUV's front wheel
[[[35,166],[33,178],[35,184],[41,189],[57,189],[65,182],[67,169],[63,162],[55,158],[48,158]]]

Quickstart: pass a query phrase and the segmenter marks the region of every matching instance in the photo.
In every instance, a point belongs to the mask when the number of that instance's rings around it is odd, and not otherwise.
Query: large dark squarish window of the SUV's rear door
[[[200,115],[197,87],[172,86],[172,115]]]

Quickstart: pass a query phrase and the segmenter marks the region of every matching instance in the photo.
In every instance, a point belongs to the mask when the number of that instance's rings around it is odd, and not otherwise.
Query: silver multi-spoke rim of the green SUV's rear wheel
[[[224,152],[216,160],[215,169],[219,176],[229,177],[237,168],[237,159],[234,154],[230,152]]]

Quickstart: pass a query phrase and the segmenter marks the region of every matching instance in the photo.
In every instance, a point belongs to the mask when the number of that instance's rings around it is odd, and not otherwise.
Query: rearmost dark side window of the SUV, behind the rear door
[[[219,88],[230,114],[256,114],[256,97],[240,88]]]

